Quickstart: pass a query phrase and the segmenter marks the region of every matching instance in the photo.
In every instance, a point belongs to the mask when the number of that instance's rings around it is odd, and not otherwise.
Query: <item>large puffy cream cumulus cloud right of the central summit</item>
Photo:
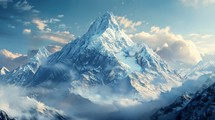
[[[201,60],[196,45],[190,40],[185,40],[182,35],[172,33],[169,27],[160,29],[154,26],[149,33],[140,32],[130,37],[137,43],[146,43],[171,63],[183,62],[194,65]]]

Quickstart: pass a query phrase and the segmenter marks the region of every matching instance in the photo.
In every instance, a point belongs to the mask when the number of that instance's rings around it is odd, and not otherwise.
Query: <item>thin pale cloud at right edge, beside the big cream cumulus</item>
[[[215,35],[193,33],[188,35],[187,38],[196,44],[201,54],[215,53]]]

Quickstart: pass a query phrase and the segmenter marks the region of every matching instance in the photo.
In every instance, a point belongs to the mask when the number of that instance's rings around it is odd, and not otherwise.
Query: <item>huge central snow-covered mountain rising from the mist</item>
[[[94,91],[102,96],[110,92],[151,100],[180,86],[180,80],[153,50],[134,43],[121,31],[115,16],[106,13],[86,34],[49,56],[28,86],[66,83],[69,88],[65,89],[84,97]]]

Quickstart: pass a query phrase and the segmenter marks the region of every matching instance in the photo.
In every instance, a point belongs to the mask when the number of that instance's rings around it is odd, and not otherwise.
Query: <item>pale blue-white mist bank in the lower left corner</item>
[[[13,85],[0,86],[0,109],[12,118],[26,118],[31,116],[30,110],[45,108],[43,103],[26,96],[26,90]]]

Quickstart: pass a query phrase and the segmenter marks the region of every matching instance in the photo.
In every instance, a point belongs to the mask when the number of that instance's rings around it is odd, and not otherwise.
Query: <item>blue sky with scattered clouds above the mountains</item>
[[[194,61],[215,51],[215,0],[0,0],[0,49],[26,54],[50,44],[63,46],[107,11],[133,39],[173,38],[192,46],[188,52],[194,51]],[[161,48],[171,40],[157,43],[149,46],[165,56]]]

